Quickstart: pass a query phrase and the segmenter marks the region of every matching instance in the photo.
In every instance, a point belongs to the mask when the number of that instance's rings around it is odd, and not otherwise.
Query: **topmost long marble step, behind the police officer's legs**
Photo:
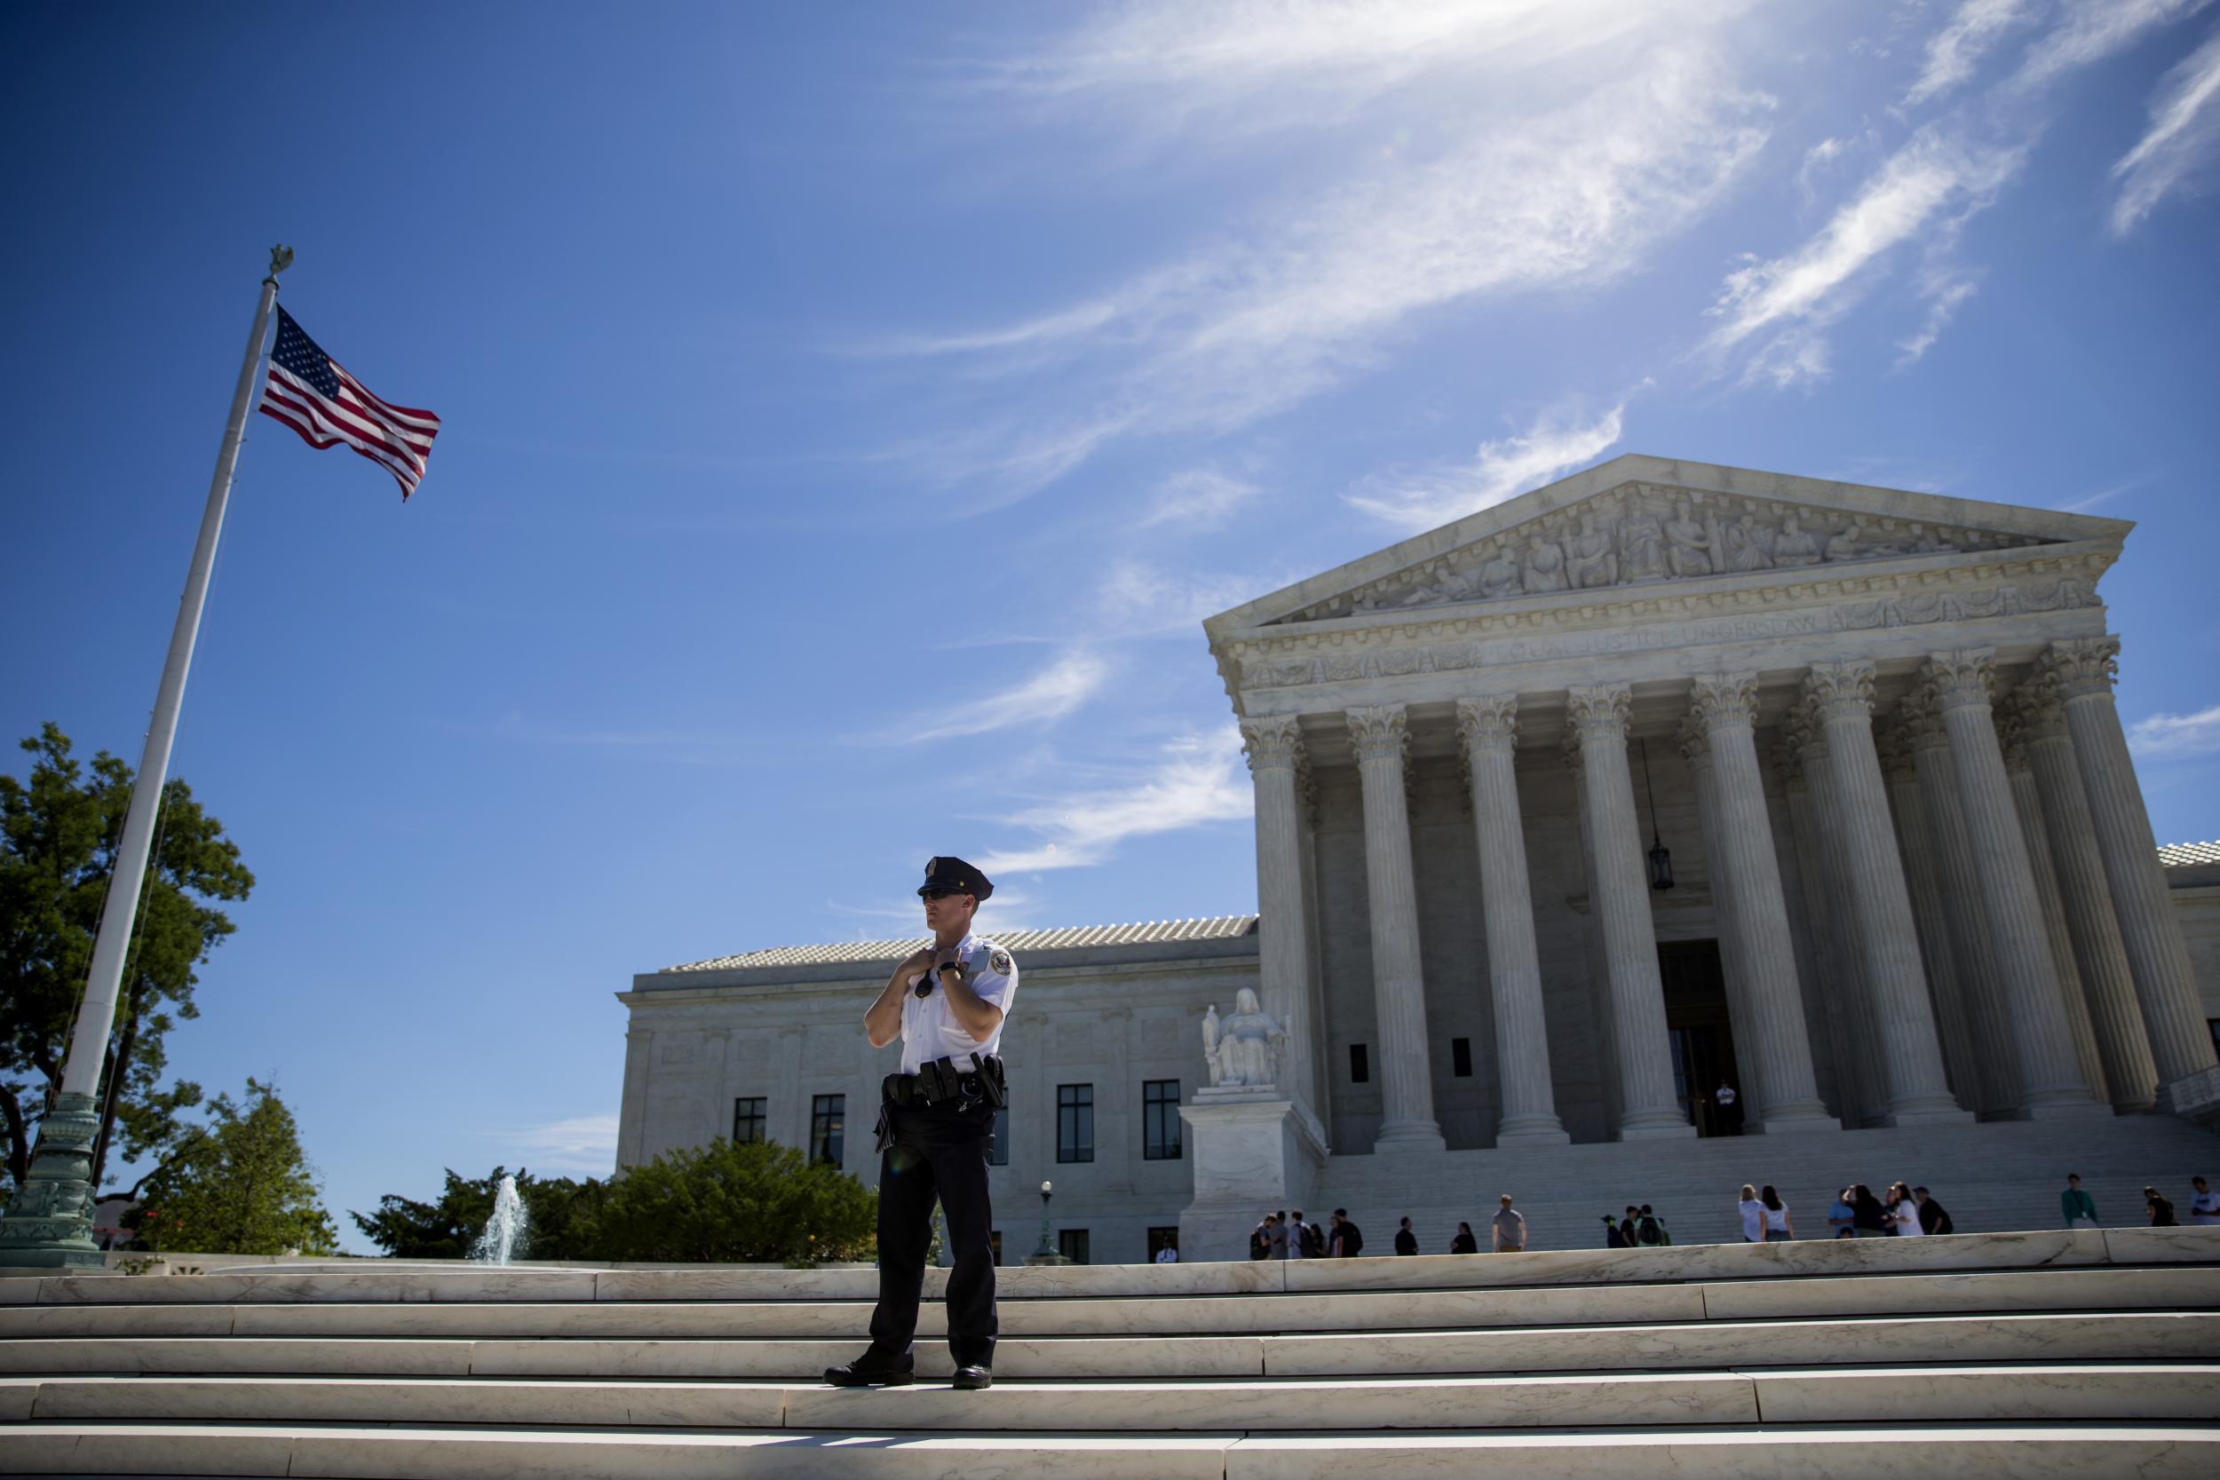
[[[2054,1269],[2065,1265],[2220,1263],[2220,1227],[2036,1229],[1951,1238],[1845,1238],[1665,1249],[1556,1249],[1534,1254],[1197,1260],[1185,1265],[1003,1267],[1003,1298],[1232,1296],[1330,1289],[1485,1289],[1641,1280],[1916,1274],[1938,1269]],[[946,1269],[926,1271],[937,1296]],[[0,1307],[20,1305],[300,1305],[571,1300],[868,1300],[875,1269],[362,1269],[291,1271],[255,1265],[200,1276],[13,1276]]]

